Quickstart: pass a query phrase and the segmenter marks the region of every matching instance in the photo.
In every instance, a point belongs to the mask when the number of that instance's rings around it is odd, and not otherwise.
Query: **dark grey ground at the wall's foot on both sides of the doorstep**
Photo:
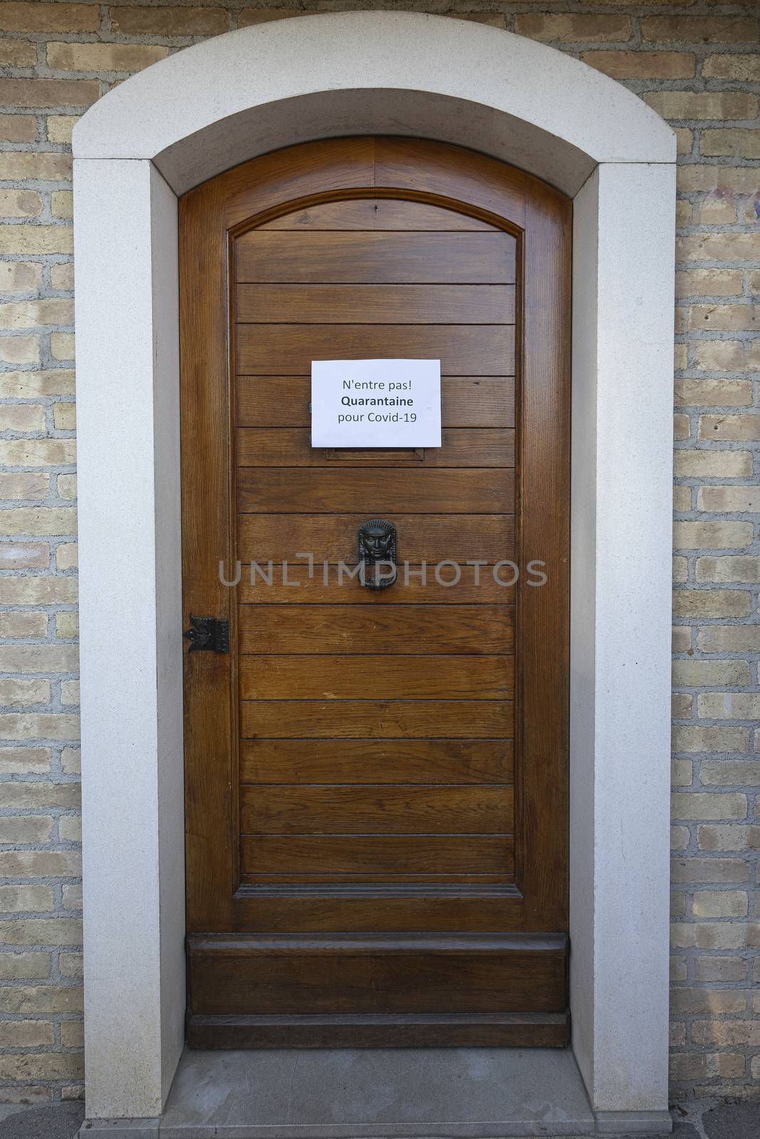
[[[760,1103],[693,1103],[675,1107],[673,1139],[759,1139]],[[0,1108],[0,1139],[74,1139],[84,1118],[81,1103]],[[619,1136],[618,1139],[640,1139]]]

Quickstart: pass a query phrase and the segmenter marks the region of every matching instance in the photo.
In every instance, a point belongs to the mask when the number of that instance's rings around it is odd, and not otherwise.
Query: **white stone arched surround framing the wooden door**
[[[675,138],[555,49],[379,11],[220,35],[74,131],[90,1118],[157,1115],[183,1040],[177,195],[389,132],[574,196],[573,1048],[595,1111],[667,1106]]]

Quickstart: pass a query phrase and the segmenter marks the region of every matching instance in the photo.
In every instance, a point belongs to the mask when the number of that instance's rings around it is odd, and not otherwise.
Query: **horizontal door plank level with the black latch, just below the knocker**
[[[514,609],[497,605],[245,605],[238,616],[238,637],[242,654],[302,654],[311,657],[313,670],[322,666],[320,654],[369,657],[385,653],[415,655],[419,669],[427,669],[427,654],[510,653]],[[466,665],[460,666],[464,672]]]

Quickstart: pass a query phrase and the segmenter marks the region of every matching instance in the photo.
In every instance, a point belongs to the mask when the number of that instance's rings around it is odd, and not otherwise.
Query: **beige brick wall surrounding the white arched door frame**
[[[760,1096],[757,2],[0,0],[0,1101],[82,1090],[72,124],[198,39],[373,7],[549,42],[678,132],[673,1098]]]

